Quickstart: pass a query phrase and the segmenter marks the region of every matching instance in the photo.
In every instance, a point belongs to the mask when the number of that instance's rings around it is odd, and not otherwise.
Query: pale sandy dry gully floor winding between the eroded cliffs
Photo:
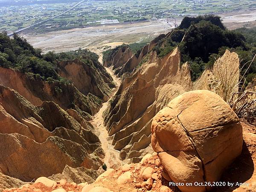
[[[117,87],[113,91],[113,94],[112,94],[112,96],[113,96],[116,93],[116,91],[118,90],[118,87],[119,87],[121,81],[120,81],[120,78],[117,78],[116,76],[114,76],[114,73],[111,69],[106,67],[106,70],[112,76],[112,78],[116,84],[116,87]],[[108,102],[109,102],[109,100],[108,100]],[[104,163],[106,163],[106,165],[109,169],[109,168],[117,168],[120,165],[122,165],[123,163],[121,160],[119,160],[119,151],[117,151],[113,148],[113,145],[111,144],[112,140],[108,139],[108,131],[106,130],[106,127],[104,126],[104,120],[103,120],[102,114],[108,107],[108,102],[105,102],[102,104],[102,108],[100,108],[99,112],[93,116],[93,120],[90,122],[94,126],[94,128],[96,130],[96,134],[102,143],[102,149],[105,151]]]

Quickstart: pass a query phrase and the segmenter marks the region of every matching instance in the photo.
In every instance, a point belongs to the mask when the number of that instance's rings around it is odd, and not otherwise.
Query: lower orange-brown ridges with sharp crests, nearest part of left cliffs
[[[75,111],[68,113],[54,102],[34,106],[0,85],[0,119],[4,175],[31,181],[61,173],[66,165],[96,172],[103,164],[104,151],[93,126]]]

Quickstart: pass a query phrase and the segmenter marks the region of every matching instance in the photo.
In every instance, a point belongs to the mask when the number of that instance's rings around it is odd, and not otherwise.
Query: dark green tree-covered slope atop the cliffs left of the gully
[[[68,83],[61,78],[57,70],[57,62],[79,58],[85,64],[99,67],[99,56],[87,49],[79,49],[70,52],[47,52],[42,54],[40,49],[33,48],[26,39],[17,34],[9,38],[6,33],[0,33],[0,66],[37,76],[44,81],[54,80]]]

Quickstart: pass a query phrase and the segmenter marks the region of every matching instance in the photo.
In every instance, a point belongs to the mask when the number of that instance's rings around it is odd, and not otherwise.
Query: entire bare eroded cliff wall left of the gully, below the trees
[[[99,63],[58,63],[71,83],[0,67],[0,190],[42,175],[92,183],[105,152],[91,120],[112,92]]]

